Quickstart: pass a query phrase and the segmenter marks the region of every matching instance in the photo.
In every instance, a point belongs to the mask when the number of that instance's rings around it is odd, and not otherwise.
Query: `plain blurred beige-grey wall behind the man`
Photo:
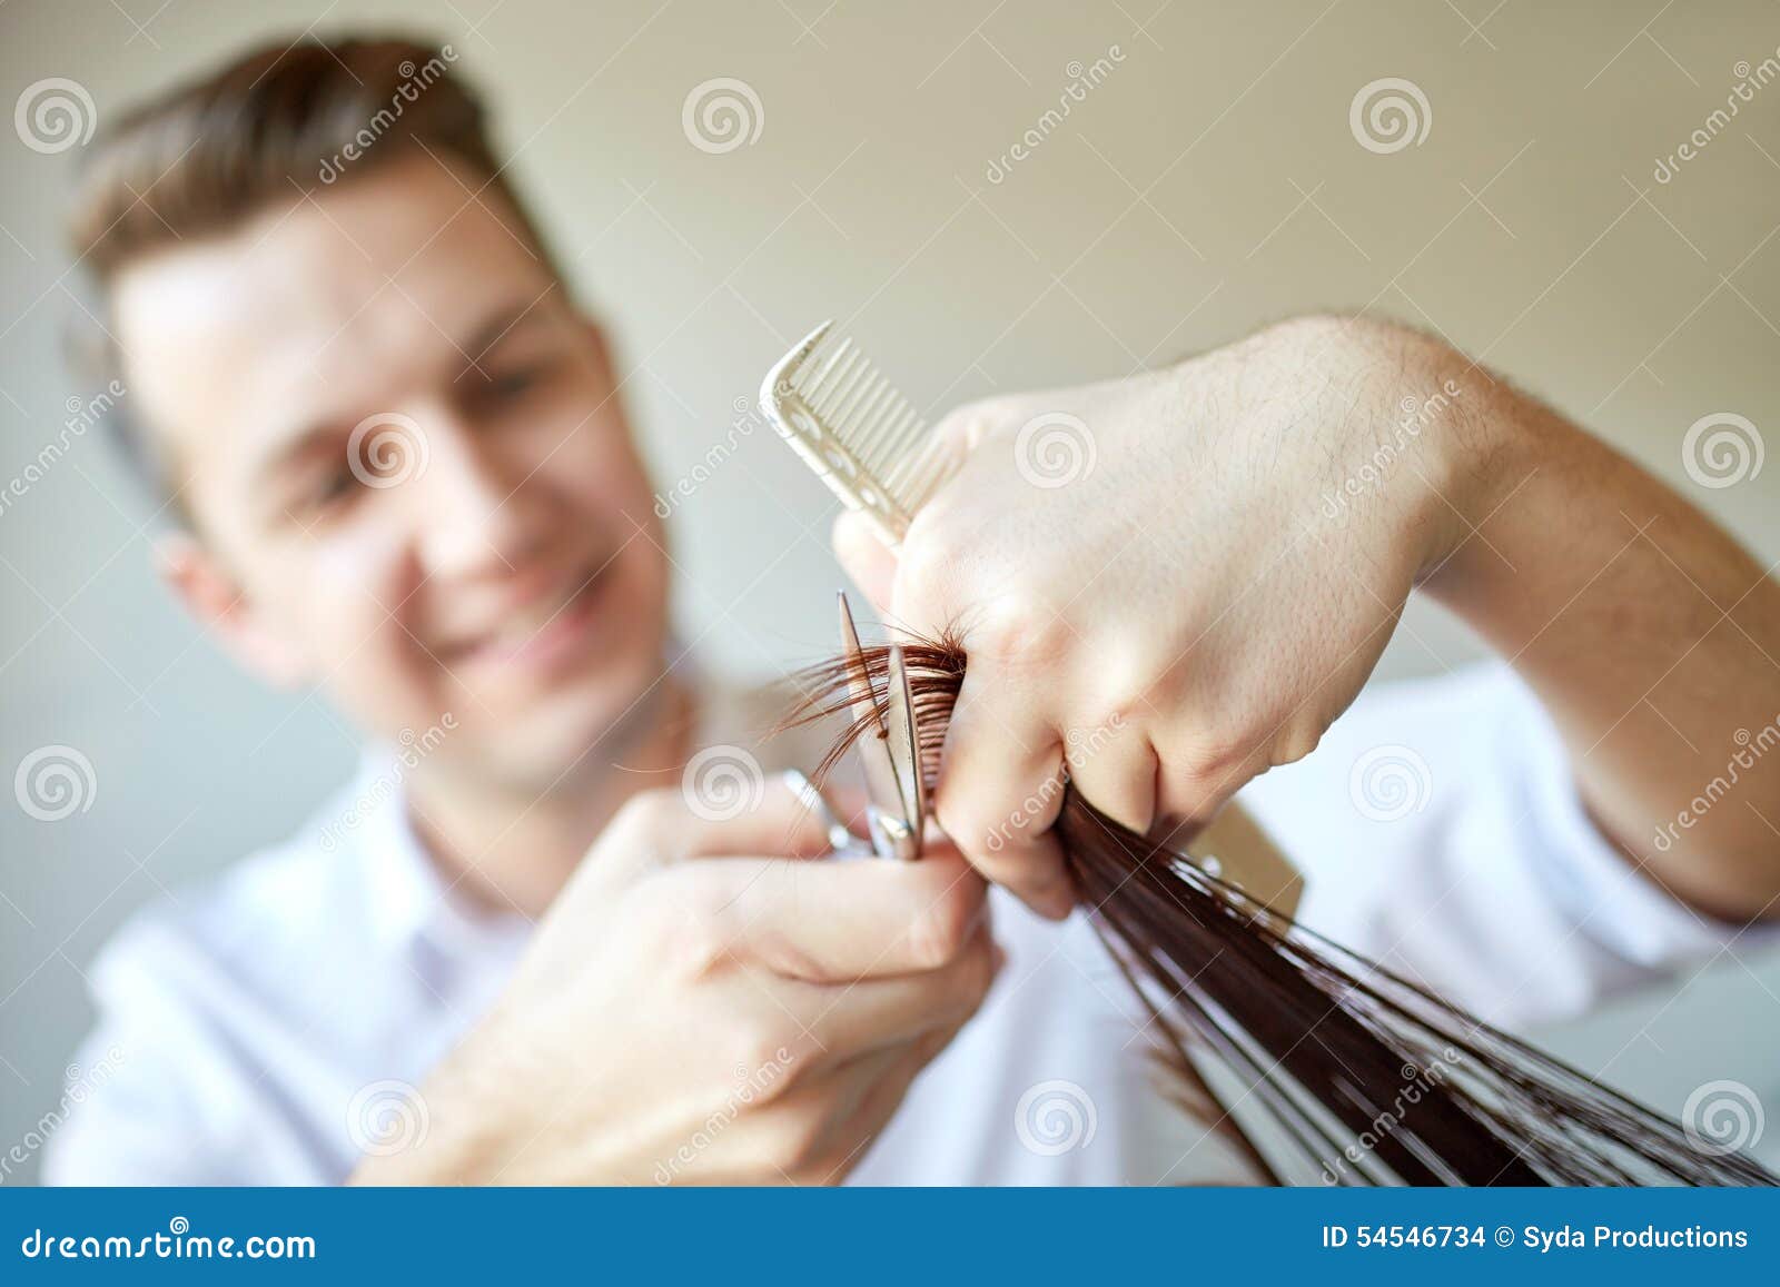
[[[1775,55],[1780,14],[1760,0],[1709,16],[1655,0],[157,5],[12,0],[0,107],[68,77],[105,119],[247,43],[344,28],[347,12],[452,41],[577,287],[616,322],[664,484],[822,317],[940,409],[1346,306],[1440,329],[1780,555],[1780,465],[1709,490],[1680,457],[1709,413],[1775,427],[1780,85],[1671,182],[1654,176],[1725,105],[1739,62]],[[1096,59],[1111,75],[990,182],[991,160],[1043,130],[1072,64]],[[708,155],[682,132],[687,93],[712,77],[758,93],[751,146]],[[1349,105],[1381,77],[1424,91],[1419,146],[1356,142]],[[0,157],[12,479],[75,392],[57,360],[75,306],[57,240],[69,157],[5,132]],[[751,436],[676,520],[682,630],[716,664],[771,673],[826,648],[829,511],[776,441]],[[62,822],[0,810],[0,1152],[57,1098],[89,1016],[82,972],[117,920],[278,837],[352,755],[335,716],[260,692],[174,612],[148,573],[146,518],[91,436],[0,514],[0,767],[68,744],[96,780]],[[1472,652],[1413,611],[1385,671]],[[1670,1109],[1707,1075],[1780,1109],[1776,992],[1771,965],[1719,963],[1559,1041]]]

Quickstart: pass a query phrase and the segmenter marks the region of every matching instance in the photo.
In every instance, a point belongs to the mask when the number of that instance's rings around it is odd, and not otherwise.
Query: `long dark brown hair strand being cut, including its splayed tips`
[[[967,655],[951,637],[904,641],[902,652],[931,787]],[[837,659],[799,675],[803,696],[781,726],[846,717],[819,780],[872,726],[851,682],[867,680],[883,707],[888,646],[865,648],[860,666]],[[1271,911],[1068,785],[1056,835],[1082,906],[1177,1066],[1221,1061],[1246,1088],[1241,1105],[1326,1182],[1776,1182],[1746,1155],[1695,1146],[1671,1118]]]

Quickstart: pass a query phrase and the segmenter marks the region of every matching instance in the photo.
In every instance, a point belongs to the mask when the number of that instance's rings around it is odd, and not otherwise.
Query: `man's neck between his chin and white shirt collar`
[[[443,765],[417,773],[409,821],[454,892],[538,919],[627,799],[678,781],[692,714],[692,694],[673,678],[662,682],[628,728],[602,737],[543,792]]]

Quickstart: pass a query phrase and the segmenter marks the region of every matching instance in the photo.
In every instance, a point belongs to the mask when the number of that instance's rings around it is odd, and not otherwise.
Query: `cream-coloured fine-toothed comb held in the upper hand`
[[[760,384],[780,436],[894,550],[951,474],[951,454],[847,336],[822,322]]]

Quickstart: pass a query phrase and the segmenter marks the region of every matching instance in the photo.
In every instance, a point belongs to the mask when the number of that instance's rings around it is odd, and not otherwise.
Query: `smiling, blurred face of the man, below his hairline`
[[[666,555],[598,331],[477,187],[418,157],[146,258],[116,335],[235,653],[546,789],[648,707]]]

